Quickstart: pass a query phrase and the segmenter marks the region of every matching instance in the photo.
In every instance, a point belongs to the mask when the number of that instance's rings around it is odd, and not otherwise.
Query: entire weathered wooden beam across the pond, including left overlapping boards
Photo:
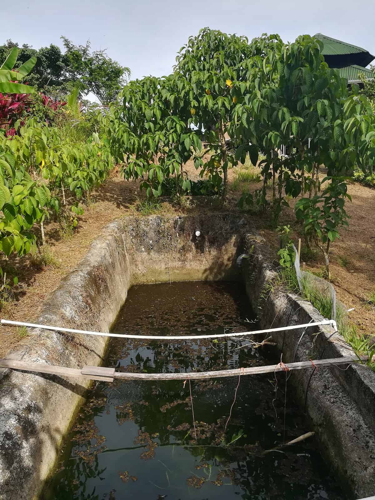
[[[227,376],[256,375],[258,373],[271,373],[275,371],[292,371],[306,368],[326,368],[341,364],[351,364],[359,361],[366,361],[368,356],[348,356],[333,357],[329,359],[314,359],[309,361],[299,361],[295,363],[278,363],[267,366],[252,366],[249,368],[234,368],[217,371],[190,371],[178,373],[130,373],[126,371],[115,371],[114,368],[102,366],[83,366],[83,368],[67,368],[64,366],[53,366],[45,363],[31,363],[18,361],[15,359],[0,359],[0,368],[12,368],[15,370],[32,371],[46,373],[49,375],[67,376],[74,378],[89,378],[91,380],[103,380],[113,382],[114,378],[122,380],[190,380],[202,378],[219,378]]]

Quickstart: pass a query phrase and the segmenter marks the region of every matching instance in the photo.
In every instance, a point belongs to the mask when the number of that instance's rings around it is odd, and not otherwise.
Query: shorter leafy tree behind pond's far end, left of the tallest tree
[[[175,90],[172,75],[130,81],[121,92],[122,106],[111,105],[103,118],[112,154],[125,162],[125,178],[141,178],[147,196],[179,194],[191,187],[183,164],[201,143],[181,117],[184,101]]]

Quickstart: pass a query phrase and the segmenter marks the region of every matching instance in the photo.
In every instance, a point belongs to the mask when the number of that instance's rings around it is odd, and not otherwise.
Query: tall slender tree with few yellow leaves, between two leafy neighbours
[[[237,163],[234,154],[226,147],[226,134],[231,131],[232,112],[237,102],[233,80],[247,83],[241,66],[249,54],[248,40],[244,36],[228,35],[219,30],[200,29],[197,36],[190,36],[176,57],[174,80],[185,91],[181,98],[189,109],[184,116],[188,125],[193,123],[204,130],[204,138],[211,154],[208,161],[200,160],[201,175],[207,173],[216,183],[223,176],[222,199],[227,191],[227,169]],[[184,81],[185,80],[185,81]],[[187,88],[186,88],[187,87]]]

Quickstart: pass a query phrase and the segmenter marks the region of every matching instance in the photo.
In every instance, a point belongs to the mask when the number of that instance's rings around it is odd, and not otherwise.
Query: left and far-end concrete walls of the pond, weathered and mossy
[[[201,236],[195,236],[198,229]],[[37,324],[109,331],[133,283],[241,279],[243,217],[127,217],[109,224],[43,304]],[[108,337],[29,329],[7,357],[80,368]],[[89,381],[0,369],[0,499],[37,498]]]

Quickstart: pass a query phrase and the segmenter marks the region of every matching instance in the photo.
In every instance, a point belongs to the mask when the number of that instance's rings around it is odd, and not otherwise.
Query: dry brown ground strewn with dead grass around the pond
[[[187,165],[189,175],[196,177],[193,165]],[[251,182],[244,186],[235,180],[236,170],[229,170],[229,196],[226,210],[234,210],[236,200],[244,187],[250,191],[260,184]],[[375,288],[375,190],[357,183],[351,183],[348,192],[352,202],[347,202],[346,208],[350,215],[349,228],[341,231],[341,238],[334,242],[331,250],[332,283],[337,297],[348,306],[355,309],[349,313],[350,320],[360,330],[367,333],[375,331],[375,307],[368,303],[368,296]],[[69,238],[61,237],[57,222],[45,223],[45,238],[50,247],[52,262],[41,265],[31,255],[24,258],[13,258],[0,262],[3,269],[11,277],[16,274],[19,284],[14,288],[14,299],[4,303],[1,317],[20,321],[30,321],[42,306],[44,298],[53,290],[62,276],[69,272],[82,259],[91,241],[100,233],[103,226],[115,218],[132,213],[134,202],[142,198],[138,184],[125,181],[119,174],[109,177],[93,194],[92,201],[85,207],[74,233]],[[168,211],[187,212],[189,209],[167,207]],[[218,210],[220,208],[211,208]],[[192,208],[191,210],[196,210]],[[278,238],[266,217],[248,213],[255,228],[276,248]],[[293,238],[300,237],[301,227],[295,221],[292,207],[283,211],[280,225],[290,224]],[[322,260],[319,255],[305,257],[302,238],[301,260],[307,268],[319,269]],[[22,342],[25,336],[24,328],[8,326],[0,327],[0,357]]]

